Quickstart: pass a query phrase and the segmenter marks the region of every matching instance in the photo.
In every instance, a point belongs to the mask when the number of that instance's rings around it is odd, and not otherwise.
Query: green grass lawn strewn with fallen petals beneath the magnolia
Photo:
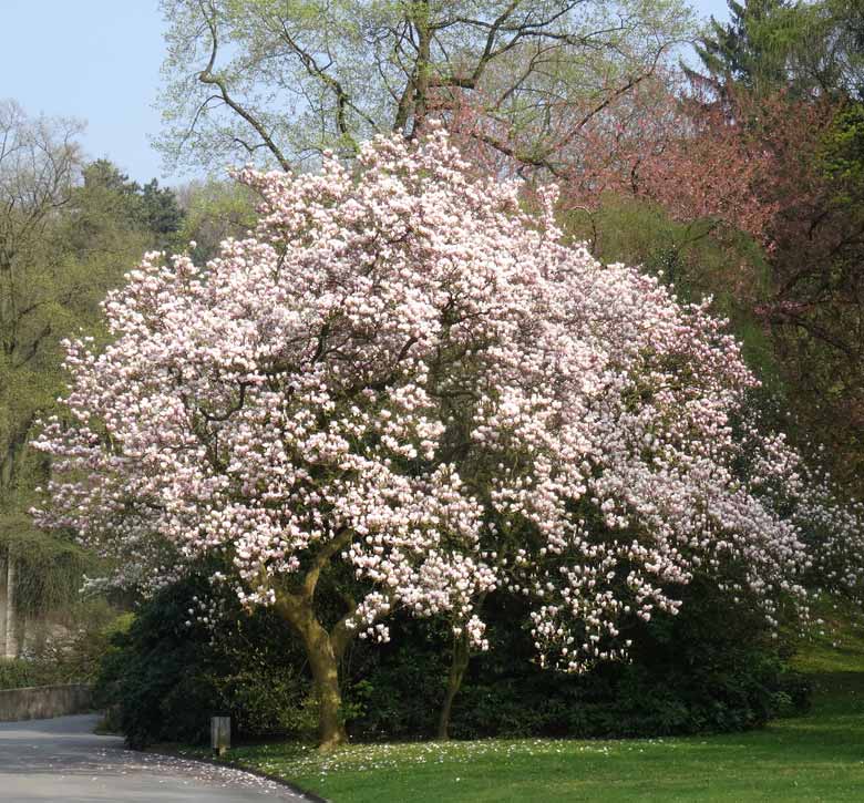
[[[802,650],[814,682],[806,716],[749,733],[686,739],[488,740],[351,745],[330,755],[292,744],[232,760],[336,803],[368,801],[861,801],[864,636],[844,628]]]

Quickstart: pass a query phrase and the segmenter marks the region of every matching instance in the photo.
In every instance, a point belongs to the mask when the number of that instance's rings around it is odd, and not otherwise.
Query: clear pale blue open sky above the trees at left
[[[726,0],[692,0],[727,17]],[[140,182],[164,176],[150,137],[163,56],[158,0],[0,0],[0,97],[86,121],[84,147]]]

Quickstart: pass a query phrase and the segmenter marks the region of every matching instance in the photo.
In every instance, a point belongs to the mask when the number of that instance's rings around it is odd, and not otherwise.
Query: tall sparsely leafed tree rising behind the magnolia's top
[[[544,165],[693,35],[680,0],[163,0],[169,163],[288,168],[430,115]],[[514,142],[514,135],[515,142]]]

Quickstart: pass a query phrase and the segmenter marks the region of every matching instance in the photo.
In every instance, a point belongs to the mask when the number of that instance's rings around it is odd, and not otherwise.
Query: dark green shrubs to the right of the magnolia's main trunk
[[[634,626],[631,663],[600,665],[574,677],[532,662],[520,600],[491,599],[492,649],[472,659],[451,722],[455,738],[648,737],[734,731],[804,708],[805,680],[755,612],[695,584],[682,612]],[[443,626],[397,620],[393,640],[353,659],[352,699],[360,738],[416,738],[435,731],[449,656]]]

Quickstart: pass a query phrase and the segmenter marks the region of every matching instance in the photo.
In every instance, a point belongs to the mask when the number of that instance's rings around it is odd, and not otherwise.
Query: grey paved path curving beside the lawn
[[[0,722],[0,801],[264,803],[306,800],[224,766],[124,750],[96,717]]]

